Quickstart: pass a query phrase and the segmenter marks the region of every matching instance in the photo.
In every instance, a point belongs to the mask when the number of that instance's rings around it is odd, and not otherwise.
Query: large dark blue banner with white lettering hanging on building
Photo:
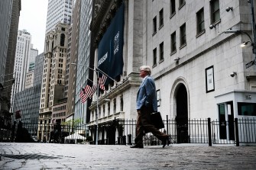
[[[99,42],[98,68],[115,79],[123,72],[124,10],[122,4]],[[107,85],[109,79],[105,82]]]

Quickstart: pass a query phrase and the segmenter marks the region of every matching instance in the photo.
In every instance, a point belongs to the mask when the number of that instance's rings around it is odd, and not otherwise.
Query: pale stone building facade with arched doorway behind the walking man
[[[256,67],[246,65],[254,60],[254,55],[251,47],[239,46],[253,37],[250,3],[241,0],[95,2],[99,3],[95,5],[100,11],[93,17],[91,27],[96,61],[101,57],[97,54],[101,51],[100,43],[112,27],[115,12],[122,8],[122,3],[125,6],[121,79],[109,83],[109,90],[99,98],[99,111],[96,98],[89,107],[89,126],[97,123],[98,116],[99,140],[111,137],[108,129],[113,120],[136,119],[136,95],[141,84],[138,69],[142,65],[152,68],[158,111],[181,126],[191,119],[210,117],[222,122],[256,116]],[[225,30],[238,31],[225,34]],[[233,131],[225,127],[220,133],[226,134],[226,140],[232,140]],[[114,138],[120,133],[113,132]]]

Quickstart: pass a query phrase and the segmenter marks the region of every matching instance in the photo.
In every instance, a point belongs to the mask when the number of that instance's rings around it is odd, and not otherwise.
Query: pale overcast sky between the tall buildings
[[[18,30],[27,30],[31,34],[31,43],[38,54],[44,52],[47,5],[48,0],[21,0]]]

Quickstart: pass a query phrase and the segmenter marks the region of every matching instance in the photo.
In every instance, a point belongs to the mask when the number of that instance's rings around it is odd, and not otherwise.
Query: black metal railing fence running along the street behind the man
[[[21,123],[21,122],[20,122]],[[18,123],[11,129],[0,130],[0,142],[44,142],[44,143],[95,143],[96,128],[68,126],[60,124]],[[99,125],[99,144],[133,144],[136,136],[136,120],[118,120],[111,126]],[[170,143],[235,144],[256,143],[256,120],[237,119],[219,121],[208,119],[164,120],[165,127],[160,131],[169,135]],[[105,131],[105,132],[104,132]],[[108,133],[112,133],[109,135]],[[112,139],[110,139],[110,137]],[[151,133],[145,133],[144,145],[160,145]]]

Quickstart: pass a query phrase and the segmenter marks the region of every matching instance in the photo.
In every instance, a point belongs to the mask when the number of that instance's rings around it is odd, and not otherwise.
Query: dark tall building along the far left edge
[[[11,124],[11,85],[15,63],[18,21],[21,11],[21,0],[0,1],[0,129]]]

